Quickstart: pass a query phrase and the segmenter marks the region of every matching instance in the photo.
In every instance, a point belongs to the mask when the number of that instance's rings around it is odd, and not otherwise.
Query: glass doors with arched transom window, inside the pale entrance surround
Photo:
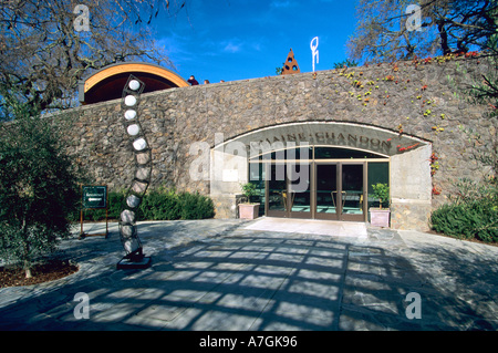
[[[377,203],[369,197],[372,185],[388,184],[388,168],[385,155],[318,145],[250,158],[249,180],[257,186],[260,214],[365,221]]]

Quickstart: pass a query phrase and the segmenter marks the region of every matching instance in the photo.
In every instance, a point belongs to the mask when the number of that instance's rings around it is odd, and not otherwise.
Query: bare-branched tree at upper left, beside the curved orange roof
[[[77,82],[91,70],[129,60],[170,65],[146,23],[185,1],[0,0],[1,105],[39,111],[74,105]],[[87,24],[82,25],[82,24]]]

